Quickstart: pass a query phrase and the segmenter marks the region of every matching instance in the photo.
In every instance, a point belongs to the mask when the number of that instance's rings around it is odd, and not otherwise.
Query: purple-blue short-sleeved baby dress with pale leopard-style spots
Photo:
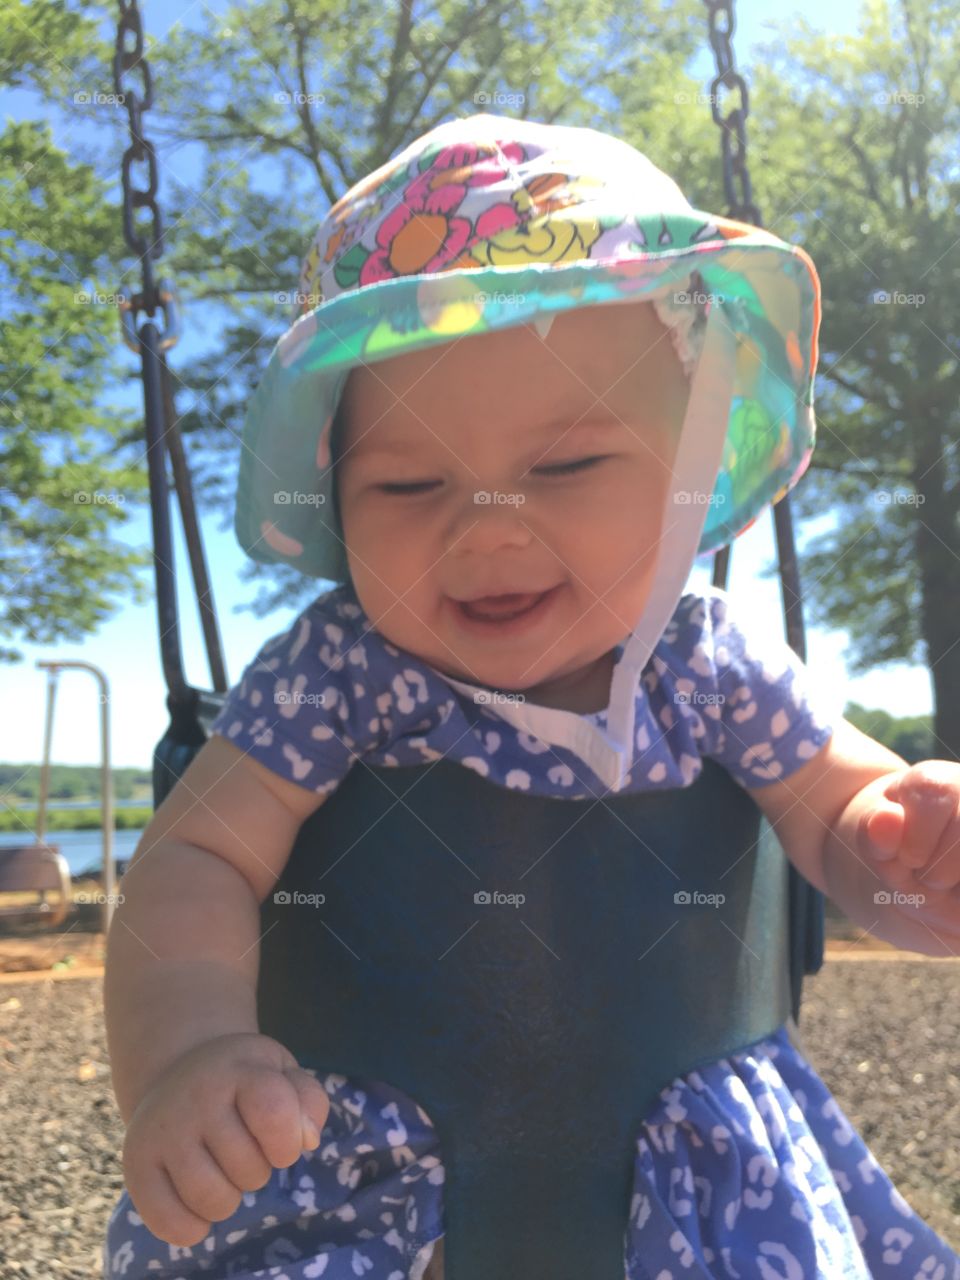
[[[690,786],[703,756],[759,787],[832,733],[790,646],[749,635],[716,588],[681,596],[644,669],[620,675],[613,689],[632,690],[632,708],[538,708],[534,735],[522,708],[475,699],[474,686],[389,644],[339,586],[265,643],[214,731],[319,795],[356,755],[374,765],[443,755],[497,785],[568,799],[604,791],[608,713],[630,724],[630,790]],[[320,1146],[244,1193],[200,1244],[159,1240],[124,1190],[104,1280],[420,1280],[443,1234],[429,1116],[381,1082],[320,1083],[330,1097]],[[960,1280],[960,1257],[899,1194],[785,1024],[660,1091],[636,1137],[625,1276]]]

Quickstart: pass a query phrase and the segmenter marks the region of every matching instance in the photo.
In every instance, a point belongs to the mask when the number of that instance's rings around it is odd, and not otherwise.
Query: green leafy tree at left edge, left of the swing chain
[[[0,22],[12,54],[0,83],[50,92],[92,29],[58,4],[3,0]],[[111,536],[146,488],[143,449],[116,453],[129,425],[102,403],[118,219],[93,169],[38,122],[6,124],[0,200],[13,233],[0,236],[0,637],[77,640],[116,608],[110,595],[146,598],[150,563]],[[3,662],[22,657],[0,646]]]

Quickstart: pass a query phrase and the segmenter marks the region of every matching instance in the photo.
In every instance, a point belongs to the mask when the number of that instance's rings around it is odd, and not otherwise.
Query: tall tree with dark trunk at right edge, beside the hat
[[[929,667],[933,750],[960,759],[956,6],[869,0],[861,22],[837,44],[800,20],[751,95],[760,207],[823,282],[819,435],[795,509],[836,524],[803,557],[805,600],[849,631],[852,672]]]

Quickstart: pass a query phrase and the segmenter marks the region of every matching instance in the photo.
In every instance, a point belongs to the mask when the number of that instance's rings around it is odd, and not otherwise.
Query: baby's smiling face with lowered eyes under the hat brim
[[[596,663],[646,600],[686,399],[649,303],[561,312],[547,339],[522,325],[353,370],[338,483],[370,621],[494,689]],[[547,591],[512,622],[463,608]]]

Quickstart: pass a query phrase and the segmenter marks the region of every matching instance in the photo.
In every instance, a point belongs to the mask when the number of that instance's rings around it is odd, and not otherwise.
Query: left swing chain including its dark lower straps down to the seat
[[[173,378],[166,364],[166,351],[180,337],[180,308],[177,291],[168,279],[154,279],[152,259],[164,252],[164,229],[160,207],[156,201],[157,166],[154,145],[143,136],[142,113],[154,105],[154,82],[150,65],[143,56],[143,26],[137,0],[118,0],[119,22],[113,58],[114,88],[119,102],[127,108],[131,145],[123,154],[123,234],[131,250],[140,259],[143,288],[132,298],[120,296],[120,330],[123,340],[142,361],[143,410],[147,439],[147,467],[150,471],[150,508],[154,535],[154,570],[156,575],[156,603],[160,625],[160,657],[164,678],[168,687],[168,707],[174,717],[182,717],[178,731],[184,736],[196,735],[197,691],[191,689],[183,673],[180,653],[179,618],[177,609],[177,582],[173,559],[173,538],[170,531],[170,503],[166,483],[165,460],[169,452],[174,485],[183,518],[183,531],[193,576],[193,586],[200,607],[200,620],[204,632],[207,660],[212,677],[212,687],[225,692],[228,687],[223,660],[223,648],[216,623],[210,579],[200,536],[193,489],[189,468],[183,449],[183,440],[177,429],[177,413],[173,397]],[[132,33],[134,45],[127,47],[127,35]],[[142,77],[143,95],[124,84],[127,72],[138,72]],[[131,180],[131,166],[147,164],[146,188],[134,187]],[[134,211],[146,207],[151,214],[147,234],[141,234],[134,223]],[[157,307],[163,311],[164,330],[157,329],[154,319]],[[137,332],[136,321],[140,312],[145,319]]]

